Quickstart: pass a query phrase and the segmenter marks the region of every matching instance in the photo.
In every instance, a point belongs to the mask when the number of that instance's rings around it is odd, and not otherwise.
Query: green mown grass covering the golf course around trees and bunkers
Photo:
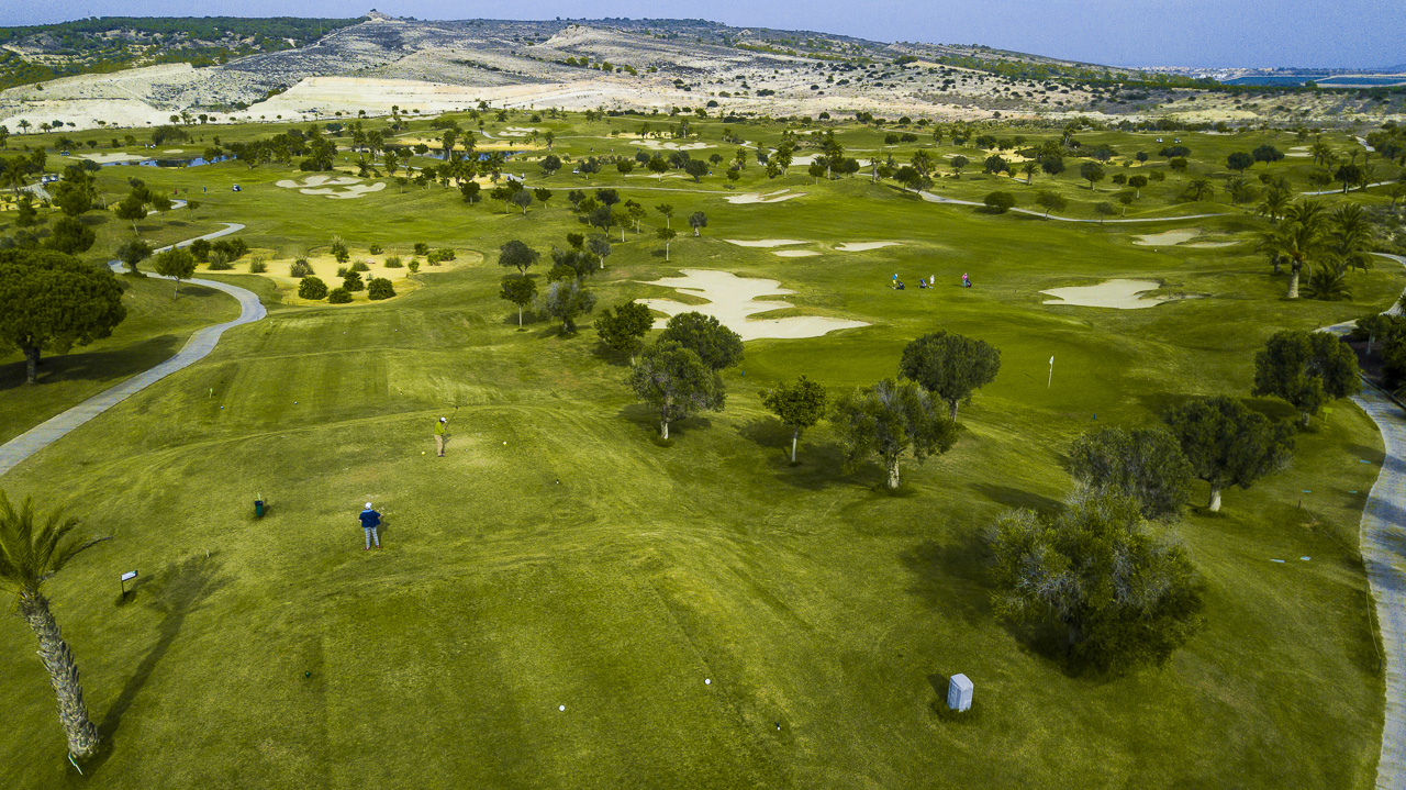
[[[538,125],[524,121],[517,114],[509,125]],[[626,146],[568,135],[638,122],[569,117],[541,127],[557,128],[558,152],[579,157]],[[721,124],[700,128],[704,142],[718,142]],[[776,125],[728,128],[748,141],[779,135]],[[846,127],[841,136],[855,149],[883,148],[875,129]],[[1198,145],[1249,150],[1261,138],[1299,145],[1281,132],[1182,141],[1199,155]],[[1107,139],[1128,153],[1156,145],[1147,135]],[[717,150],[730,157],[735,148]],[[972,169],[941,180],[941,194],[980,201],[993,179]],[[110,200],[135,170],[104,169]],[[470,207],[437,184],[392,183],[344,201],[301,195],[274,186],[297,176],[287,166],[139,170],[153,188],[194,187],[194,195],[208,186],[190,224],[200,228],[187,235],[242,222],[250,246],[284,250],[270,268],[333,235],[401,254],[425,242],[484,259],[453,271],[422,267],[423,287],[349,306],[281,304],[243,260],[209,274],[256,288],[274,309],[0,479],[11,498],[65,505],[86,529],[114,536],[49,585],[108,749],[82,779],[63,759],[53,693],[15,620],[0,628],[10,666],[0,678],[10,710],[0,786],[1375,782],[1384,680],[1357,526],[1382,446],[1357,408],[1334,403],[1296,436],[1288,471],[1227,489],[1220,513],[1202,507],[1206,486],[1197,484],[1173,529],[1206,579],[1205,628],[1166,668],[1077,675],[1057,638],[997,621],[981,536],[1007,507],[1059,506],[1073,485],[1063,453],[1078,433],[1152,425],[1194,395],[1247,398],[1253,356],[1270,335],[1379,311],[1406,285],[1400,270],[1351,274],[1347,302],[1291,302],[1286,276],[1253,252],[1264,221],[1223,198],[1178,205],[1157,193],[1135,205],[1225,218],[1076,225],[936,205],[865,176],[814,184],[793,167],[773,181],[755,160],[737,193],[806,194],[733,205],[720,170],[700,184],[658,187],[613,167],[572,176],[569,163],[543,179],[527,163],[509,170],[527,170],[529,186],[554,197],[522,215],[505,214],[486,190]],[[1077,173],[1059,181],[1071,202],[1087,187]],[[1156,187],[1174,184],[1171,176]],[[498,298],[498,246],[522,239],[547,259],[565,233],[585,231],[567,191],[598,186],[650,208],[641,233],[627,229],[620,243],[613,231],[606,268],[586,281],[600,308],[686,301],[645,283],[720,268],[796,291],[785,297],[794,308],[765,318],[872,326],[747,343],[745,361],[723,374],[727,408],[671,426],[671,440],[659,441],[657,416],[623,384],[627,358],[599,344],[589,316],[576,336],[541,319],[519,332],[516,309]],[[1101,183],[1099,194],[1109,187]],[[1031,200],[1018,205],[1033,208]],[[669,263],[654,238],[662,225],[654,207],[665,201],[679,231]],[[1091,218],[1091,205],[1067,214]],[[699,238],[686,224],[695,211],[709,216]],[[170,221],[148,224],[174,233]],[[1181,226],[1243,243],[1132,243],[1135,233]],[[125,238],[121,222],[103,228],[110,247]],[[724,240],[768,238],[813,242],[778,249],[823,254],[786,259]],[[875,240],[900,246],[834,249]],[[905,291],[889,287],[894,273]],[[957,287],[963,273],[974,288]],[[927,276],[936,287],[917,290]],[[1112,277],[1204,298],[1139,311],[1042,304],[1040,290]],[[128,322],[79,351],[107,360],[90,364],[117,377],[138,360],[159,361],[166,336],[236,309],[211,297],[211,312],[197,312],[202,297],[183,287],[172,302],[169,290],[138,281],[125,297]],[[873,384],[896,375],[907,342],[938,329],[986,340],[1002,361],[960,409],[950,453],[905,461],[896,493],[883,491],[877,464],[842,471],[825,423],[803,434],[799,464],[789,462],[790,432],[761,406],[759,389],[801,374],[831,394]],[[4,363],[6,375],[22,370]],[[77,396],[76,384],[53,375],[0,388],[3,430],[17,433],[51,413],[46,403]],[[1294,416],[1278,401],[1250,403]],[[453,433],[444,458],[433,451],[439,416],[450,416]],[[269,503],[263,519],[253,513],[259,496]],[[367,500],[385,513],[381,551],[363,551],[356,513]],[[131,569],[141,582],[120,602],[117,576]],[[943,704],[946,678],[959,672],[976,685],[965,717]]]

